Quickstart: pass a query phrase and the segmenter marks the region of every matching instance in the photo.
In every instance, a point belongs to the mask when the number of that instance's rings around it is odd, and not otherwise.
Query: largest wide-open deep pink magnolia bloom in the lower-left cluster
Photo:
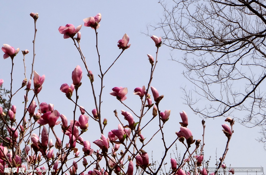
[[[55,125],[61,123],[60,121],[56,122],[59,116],[60,113],[57,110],[54,110],[53,112],[48,111],[47,113],[41,116],[41,118],[38,120],[38,123],[40,125],[49,124],[50,127],[54,127]]]

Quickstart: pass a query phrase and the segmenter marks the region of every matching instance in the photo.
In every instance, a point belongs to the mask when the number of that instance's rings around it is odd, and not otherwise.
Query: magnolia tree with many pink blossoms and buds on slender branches
[[[7,113],[3,112],[3,108],[0,107],[0,117],[3,121],[4,127],[8,130],[9,136],[2,139],[2,145],[0,146],[0,173],[1,174],[32,174],[29,170],[36,170],[36,174],[45,174],[49,170],[48,174],[89,174],[89,175],[111,175],[115,174],[159,174],[162,173],[162,166],[165,166],[166,161],[171,162],[171,170],[166,174],[198,174],[207,175],[208,170],[206,161],[204,161],[203,147],[204,147],[204,132],[205,121],[202,120],[203,126],[203,138],[195,140],[192,135],[192,131],[188,129],[188,116],[183,111],[180,113],[180,131],[176,132],[177,137],[172,138],[172,142],[166,143],[164,138],[163,126],[165,122],[168,122],[170,116],[170,110],[160,111],[160,103],[164,103],[163,95],[160,95],[156,88],[152,87],[152,78],[155,71],[155,67],[158,59],[158,51],[161,46],[161,37],[152,36],[152,40],[155,42],[156,57],[148,54],[148,60],[151,63],[151,73],[149,82],[146,87],[137,87],[134,89],[134,94],[141,99],[140,112],[134,112],[125,103],[127,99],[126,95],[128,89],[126,87],[114,87],[113,92],[110,95],[116,97],[127,109],[121,110],[121,115],[115,110],[114,118],[117,119],[118,126],[114,127],[111,131],[106,131],[107,119],[102,118],[101,111],[101,98],[103,94],[103,82],[104,76],[108,70],[115,64],[117,59],[130,48],[129,37],[124,34],[122,39],[118,41],[118,48],[121,49],[121,53],[114,60],[107,70],[102,70],[100,54],[98,51],[98,32],[97,29],[100,26],[101,14],[97,14],[94,17],[84,19],[84,26],[91,27],[95,31],[96,35],[96,49],[98,53],[101,89],[99,97],[94,91],[94,75],[89,70],[89,66],[86,63],[86,59],[80,48],[81,33],[79,32],[82,25],[77,28],[72,24],[66,24],[59,27],[59,32],[64,34],[64,39],[72,39],[77,51],[80,53],[80,57],[84,65],[76,66],[72,72],[73,83],[62,84],[60,90],[65,93],[66,100],[73,102],[73,117],[67,118],[61,112],[54,109],[53,104],[47,104],[42,102],[38,98],[38,94],[41,93],[43,82],[45,81],[45,75],[40,76],[34,69],[35,59],[35,37],[36,37],[36,21],[38,19],[38,13],[31,13],[30,16],[34,19],[35,35],[33,40],[33,59],[30,77],[26,77],[25,67],[25,79],[22,82],[22,86],[19,89],[12,89],[13,82],[13,60],[14,57],[19,54],[19,48],[14,49],[8,44],[4,44],[2,47],[4,59],[11,59],[11,86],[10,86],[10,100],[9,103],[4,104],[4,108]],[[25,57],[28,50],[22,51],[23,61],[25,65]],[[8,62],[8,60],[6,60]],[[8,64],[8,63],[7,63]],[[88,78],[83,78],[82,69],[85,70]],[[33,78],[33,86],[32,86]],[[78,103],[78,89],[83,88],[81,80],[89,81],[92,88],[93,98],[91,99],[95,103],[95,109],[92,112],[88,111]],[[4,80],[0,80],[0,86]],[[20,82],[19,82],[20,83]],[[26,87],[26,88],[25,88]],[[58,87],[59,88],[59,87]],[[11,101],[14,95],[18,91],[24,90],[24,113],[21,116],[15,116],[16,106],[11,106]],[[34,95],[29,96],[29,91],[33,91]],[[149,93],[152,93],[152,96]],[[162,93],[162,92],[161,92]],[[1,97],[3,100],[3,98]],[[115,100],[115,99],[114,99]],[[153,103],[154,102],[154,103]],[[16,102],[13,102],[16,104]],[[37,108],[37,109],[36,109]],[[79,111],[79,110],[80,111]],[[77,116],[78,114],[78,116]],[[159,115],[158,115],[159,114]],[[126,123],[122,122],[123,116],[126,119]],[[150,120],[147,123],[143,123],[144,116],[149,116]],[[60,118],[60,119],[59,119]],[[92,122],[98,123],[101,132],[101,138],[98,140],[84,140],[82,134],[88,130],[88,121],[92,118]],[[7,119],[10,123],[6,122]],[[158,121],[159,127],[156,133],[150,138],[147,138],[143,131],[145,127],[148,127],[150,122]],[[180,120],[180,121],[181,121]],[[227,118],[225,120],[227,124],[223,124],[223,132],[227,139],[225,152],[221,155],[221,158],[217,160],[215,165],[217,168],[225,168],[224,159],[228,151],[228,144],[233,133],[234,119]],[[55,127],[60,127],[63,132],[63,137],[60,138],[54,131]],[[194,130],[201,130],[196,128]],[[174,132],[174,130],[173,130]],[[151,151],[149,149],[149,143],[155,135],[161,136],[161,142],[164,145],[163,157],[160,161],[151,161]],[[51,138],[55,138],[52,140]],[[139,139],[138,139],[139,138]],[[202,143],[201,140],[202,139]],[[183,144],[186,147],[184,156],[171,158],[166,160],[169,150],[172,150],[174,144]],[[93,148],[93,149],[92,149]],[[120,150],[120,152],[118,152]],[[82,163],[81,163],[82,162]],[[136,168],[134,168],[136,167]],[[169,167],[170,168],[170,167]],[[234,174],[234,170],[230,170]],[[211,175],[217,174],[215,171]]]

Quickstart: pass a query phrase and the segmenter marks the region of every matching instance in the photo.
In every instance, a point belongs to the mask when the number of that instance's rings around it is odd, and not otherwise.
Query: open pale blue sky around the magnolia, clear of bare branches
[[[39,75],[45,74],[43,89],[38,95],[40,102],[54,104],[54,109],[64,114],[69,120],[72,119],[74,104],[60,91],[60,86],[63,83],[68,83],[69,85],[72,83],[71,73],[77,65],[80,65],[84,74],[82,86],[78,90],[80,97],[78,104],[84,106],[88,111],[95,108],[89,78],[86,76],[80,55],[73,45],[73,41],[71,39],[63,39],[63,35],[59,33],[58,28],[68,23],[73,24],[75,27],[83,25],[84,18],[101,13],[101,26],[97,31],[102,69],[106,70],[120,54],[121,50],[117,47],[117,41],[122,39],[124,33],[127,33],[130,37],[129,43],[131,43],[131,47],[125,50],[104,77],[102,118],[107,118],[108,120],[104,134],[107,136],[111,129],[117,129],[118,121],[114,116],[113,110],[128,110],[114,96],[109,95],[113,87],[127,87],[127,100],[124,102],[135,112],[139,113],[141,103],[139,97],[133,95],[133,90],[143,85],[147,87],[150,74],[150,63],[147,54],[151,54],[153,57],[156,56],[154,42],[142,32],[149,32],[149,35],[158,37],[162,35],[161,31],[153,31],[152,27],[149,27],[149,31],[147,30],[147,26],[156,25],[163,17],[163,8],[157,1],[0,1],[0,44],[9,44],[15,49],[28,49],[30,51],[26,55],[27,78],[30,77],[31,72],[32,40],[34,38],[34,20],[30,17],[30,12],[39,13],[34,70]],[[89,70],[94,74],[94,88],[96,94],[99,94],[100,79],[97,76],[99,74],[99,66],[95,49],[95,32],[90,27],[84,26],[82,26],[80,32],[81,49],[86,57]],[[179,59],[182,56],[182,52],[171,52],[167,46],[161,46],[151,84],[159,91],[160,95],[164,95],[164,99],[160,102],[160,110],[171,110],[170,119],[163,129],[167,145],[176,138],[175,132],[180,130],[178,122],[181,121],[179,112],[182,112],[182,110],[188,114],[188,128],[192,131],[194,139],[202,139],[202,118],[193,114],[188,106],[182,104],[184,95],[180,87],[193,88],[193,86],[181,74],[184,67],[177,62],[169,60],[171,59],[170,53],[175,59]],[[0,65],[0,79],[4,79],[3,86],[10,89],[11,59],[4,60],[0,58]],[[24,79],[23,73],[23,55],[20,52],[14,58],[14,90],[21,86]],[[12,104],[17,106],[16,118],[19,118],[19,113],[21,116],[23,112],[23,95],[24,92],[21,90],[13,97]],[[31,92],[30,95],[33,96],[33,93]],[[237,113],[234,114],[237,115]],[[79,111],[77,115],[80,115]],[[120,112],[119,116],[123,119]],[[152,118],[152,115],[148,113],[144,121],[148,121],[150,118]],[[223,117],[205,119],[206,145],[204,153],[205,159],[211,156],[209,167],[215,167],[216,153],[219,159],[226,146],[227,138],[223,134],[221,126],[225,123],[224,120],[225,118]],[[127,122],[125,121],[124,123]],[[147,139],[158,130],[158,120],[151,122],[149,126],[142,132],[144,138],[147,137]],[[59,135],[63,135],[60,126],[55,128]],[[264,145],[255,140],[260,136],[258,132],[259,128],[249,129],[239,123],[235,123],[234,134],[225,159],[228,167],[230,164],[233,167],[266,167]],[[82,136],[84,140],[91,142],[94,150],[98,148],[92,142],[99,139],[101,135],[98,124],[92,119],[89,119],[89,130]],[[157,135],[154,141],[149,144],[149,149],[144,149],[150,156],[153,151],[153,158],[157,160],[160,160],[160,156],[163,153],[163,145],[160,139],[161,135]],[[177,142],[177,148],[177,152],[182,155],[185,151],[184,146]],[[167,161],[170,163],[170,158]]]

